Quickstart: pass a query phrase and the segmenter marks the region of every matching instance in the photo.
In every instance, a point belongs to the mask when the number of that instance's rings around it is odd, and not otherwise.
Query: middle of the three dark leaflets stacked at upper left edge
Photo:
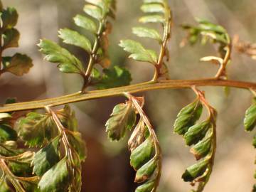
[[[18,47],[18,40],[20,38],[20,33],[15,28],[8,28],[3,33],[4,46],[6,48],[16,48]]]

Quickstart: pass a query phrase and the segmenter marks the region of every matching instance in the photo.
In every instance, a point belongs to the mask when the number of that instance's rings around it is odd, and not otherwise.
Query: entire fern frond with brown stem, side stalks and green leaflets
[[[1,2],[1,1],[0,1]],[[194,45],[212,43],[218,45],[218,55],[201,58],[202,61],[219,66],[215,77],[197,80],[171,80],[169,62],[169,40],[171,38],[172,14],[167,0],[144,0],[141,6],[144,15],[139,18],[141,26],[132,28],[132,33],[158,43],[159,50],[145,48],[142,43],[130,39],[121,40],[119,46],[129,53],[129,58],[154,65],[154,76],[149,82],[129,85],[132,78],[125,68],[112,66],[108,55],[108,36],[116,16],[114,0],[86,0],[85,14],[74,17],[75,25],[92,34],[90,38],[69,28],[58,31],[59,38],[71,46],[85,51],[90,58],[83,63],[78,55],[70,53],[53,41],[42,39],[38,44],[45,60],[56,63],[61,73],[75,73],[82,77],[79,92],[61,97],[16,102],[7,99],[0,107],[0,191],[81,191],[81,164],[87,153],[85,142],[78,132],[75,112],[68,104],[102,97],[123,96],[126,101],[116,105],[106,122],[107,136],[119,141],[131,132],[128,140],[130,164],[136,171],[136,192],[157,191],[161,178],[161,146],[149,117],[143,110],[144,97],[134,93],[160,89],[191,89],[196,99],[183,107],[174,122],[174,132],[180,134],[191,146],[196,163],[189,166],[182,178],[196,185],[192,191],[203,191],[213,171],[216,151],[217,112],[199,87],[222,86],[250,90],[256,97],[256,83],[228,80],[227,65],[231,52],[236,48],[255,58],[255,46],[233,41],[227,30],[210,21],[197,19],[198,26],[183,24],[188,36],[181,43]],[[33,66],[31,58],[21,53],[4,56],[7,48],[18,47],[19,33],[15,28],[18,14],[14,8],[4,9],[0,4],[0,75],[12,73],[17,76],[28,73]],[[149,28],[147,23],[161,26]],[[100,66],[100,68],[99,68]],[[102,70],[101,70],[102,68]],[[2,76],[3,75],[3,76]],[[92,87],[91,91],[87,88]],[[63,106],[57,108],[56,106]],[[208,117],[201,120],[203,110]],[[256,103],[245,112],[245,131],[252,132],[256,125]],[[170,130],[171,132],[171,130]],[[256,137],[253,139],[256,147]],[[90,149],[88,149],[90,150]],[[252,191],[255,191],[253,187]]]

